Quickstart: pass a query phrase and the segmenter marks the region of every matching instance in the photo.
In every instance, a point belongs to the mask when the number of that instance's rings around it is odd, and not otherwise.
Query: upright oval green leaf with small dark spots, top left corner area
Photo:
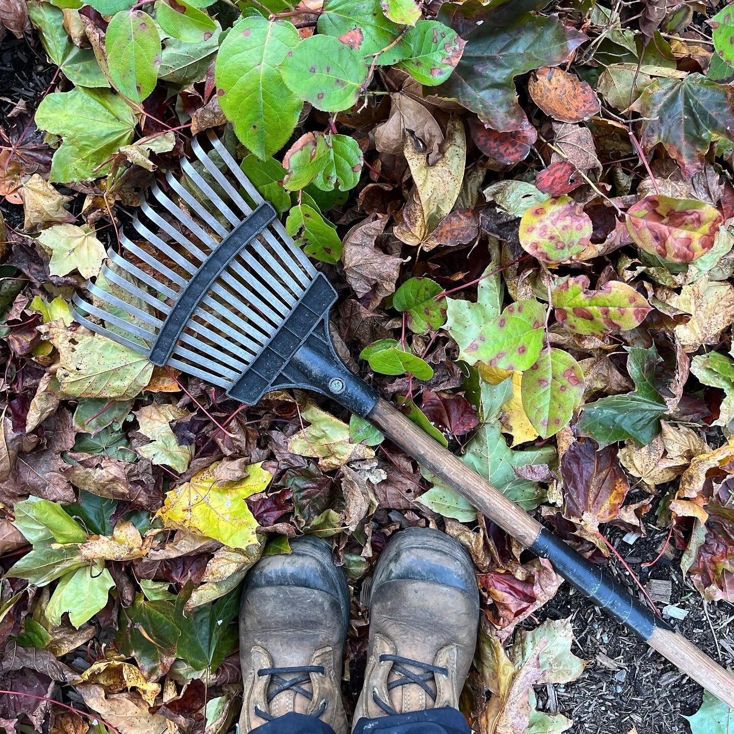
[[[153,18],[142,10],[120,11],[104,37],[107,68],[120,94],[141,103],[156,87],[161,39]]]

